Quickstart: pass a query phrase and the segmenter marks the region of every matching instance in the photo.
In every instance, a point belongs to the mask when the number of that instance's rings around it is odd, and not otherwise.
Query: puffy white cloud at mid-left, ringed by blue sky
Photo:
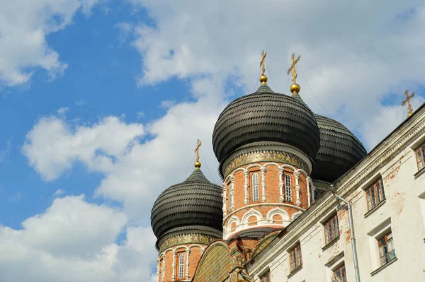
[[[28,132],[22,152],[51,181],[77,160],[90,170],[108,172],[114,158],[125,154],[143,134],[141,124],[125,124],[118,117],[105,117],[91,127],[72,127],[60,117],[43,117]]]

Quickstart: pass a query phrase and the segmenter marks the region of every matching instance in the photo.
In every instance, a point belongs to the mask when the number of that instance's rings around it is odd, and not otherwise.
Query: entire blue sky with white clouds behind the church
[[[152,281],[150,209],[268,85],[370,151],[424,102],[424,1],[0,0],[0,281]]]

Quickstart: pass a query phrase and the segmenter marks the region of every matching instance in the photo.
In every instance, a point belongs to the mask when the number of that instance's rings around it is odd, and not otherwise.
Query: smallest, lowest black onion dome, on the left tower
[[[214,228],[222,232],[222,189],[194,170],[184,182],[175,184],[159,195],[151,213],[154,234],[159,237],[174,229],[188,226]]]

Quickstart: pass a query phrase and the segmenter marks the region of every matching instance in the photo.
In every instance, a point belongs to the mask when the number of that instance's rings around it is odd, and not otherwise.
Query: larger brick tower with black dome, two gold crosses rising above
[[[293,55],[292,96],[273,92],[264,74],[255,93],[231,102],[215,124],[212,145],[220,162],[223,237],[283,228],[314,201],[310,173],[320,134],[302,101]]]

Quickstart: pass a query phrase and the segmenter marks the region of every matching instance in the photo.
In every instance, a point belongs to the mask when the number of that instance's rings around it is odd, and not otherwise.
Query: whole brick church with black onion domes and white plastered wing
[[[197,155],[154,203],[157,282],[425,281],[425,105],[367,153],[302,100],[300,57],[290,95],[265,57],[261,86],[215,124],[222,185]]]

